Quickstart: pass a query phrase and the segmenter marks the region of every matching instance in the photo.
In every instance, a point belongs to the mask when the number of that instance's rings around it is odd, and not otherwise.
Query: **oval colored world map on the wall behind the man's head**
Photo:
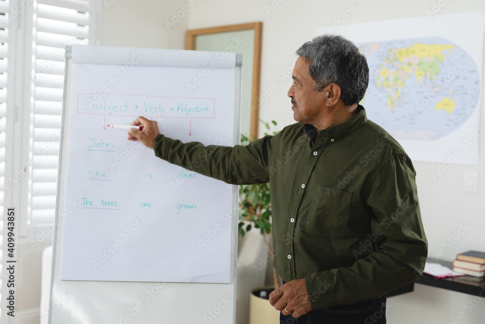
[[[463,125],[477,108],[478,68],[450,41],[432,37],[356,46],[370,74],[360,104],[395,138],[438,139]]]

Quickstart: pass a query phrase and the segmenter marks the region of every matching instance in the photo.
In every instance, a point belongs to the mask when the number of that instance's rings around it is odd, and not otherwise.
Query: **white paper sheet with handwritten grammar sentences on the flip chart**
[[[232,146],[234,66],[195,85],[200,67],[123,67],[73,63],[61,279],[229,283],[232,186],[107,125],[145,116],[165,136]]]

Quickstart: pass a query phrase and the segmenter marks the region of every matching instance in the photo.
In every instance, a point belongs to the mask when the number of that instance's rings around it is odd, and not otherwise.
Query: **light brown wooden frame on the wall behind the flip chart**
[[[227,25],[212,28],[192,29],[187,31],[187,38],[185,40],[186,50],[196,49],[196,37],[204,34],[217,34],[243,30],[254,30],[254,50],[253,50],[253,82],[251,91],[251,118],[250,118],[250,132],[249,139],[254,140],[258,138],[258,122],[259,122],[259,76],[261,69],[261,37],[262,37],[262,22],[251,22],[239,25]],[[242,107],[244,109],[244,107]]]

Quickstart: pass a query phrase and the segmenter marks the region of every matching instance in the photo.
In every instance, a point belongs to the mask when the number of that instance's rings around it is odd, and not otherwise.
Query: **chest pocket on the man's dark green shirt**
[[[352,193],[318,185],[311,196],[304,232],[329,239],[345,238]]]

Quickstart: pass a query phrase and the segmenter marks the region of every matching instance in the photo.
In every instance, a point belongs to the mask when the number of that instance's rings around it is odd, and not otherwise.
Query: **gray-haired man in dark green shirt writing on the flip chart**
[[[296,53],[288,96],[297,122],[275,136],[184,144],[140,117],[132,124],[143,130],[128,139],[230,184],[270,182],[274,266],[285,282],[270,303],[281,323],[386,323],[386,292],[419,277],[427,256],[416,173],[358,104],[369,68],[356,46],[323,35]]]

